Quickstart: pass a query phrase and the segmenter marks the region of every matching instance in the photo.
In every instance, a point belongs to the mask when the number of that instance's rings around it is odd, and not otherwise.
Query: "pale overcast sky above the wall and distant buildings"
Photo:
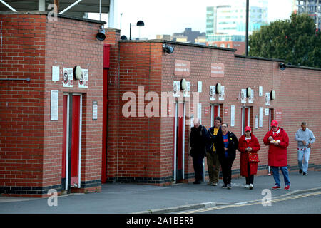
[[[129,38],[129,24],[136,25],[138,20],[143,27],[132,26],[132,37],[156,38],[157,34],[183,32],[185,28],[205,32],[206,7],[214,6],[218,0],[115,0],[116,28],[121,28],[121,35]],[[236,1],[236,0],[235,0]],[[245,1],[245,0],[237,0]],[[249,0],[250,5],[257,0]],[[220,3],[223,0],[219,0]],[[290,19],[293,0],[268,0],[268,20]],[[122,16],[121,16],[122,14]],[[99,17],[90,16],[92,19]],[[108,16],[102,17],[108,21]]]

